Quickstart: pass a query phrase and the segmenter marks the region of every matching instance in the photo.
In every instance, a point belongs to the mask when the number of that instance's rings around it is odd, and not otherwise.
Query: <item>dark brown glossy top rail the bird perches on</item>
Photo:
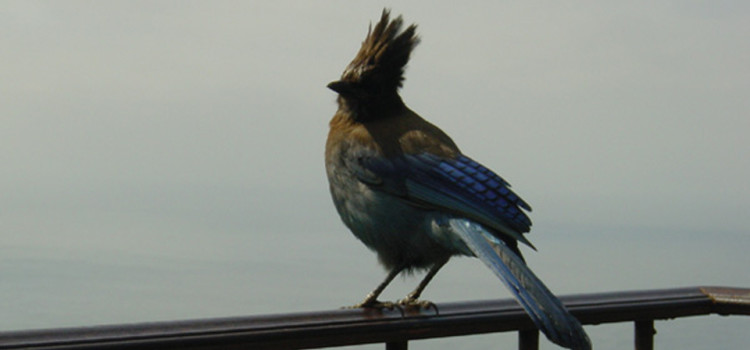
[[[583,324],[750,315],[750,289],[688,287],[560,298]],[[512,299],[428,309],[341,309],[280,315],[0,332],[0,349],[314,348],[531,329]]]

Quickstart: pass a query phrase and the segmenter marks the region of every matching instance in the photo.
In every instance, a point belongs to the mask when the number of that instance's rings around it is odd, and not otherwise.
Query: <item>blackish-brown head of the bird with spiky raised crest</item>
[[[365,117],[376,113],[373,109],[401,104],[398,88],[404,80],[404,67],[412,49],[419,43],[410,25],[402,31],[401,16],[390,20],[386,9],[375,28],[370,25],[357,56],[347,66],[341,79],[328,84],[340,96],[339,104]],[[366,118],[366,117],[365,117]]]

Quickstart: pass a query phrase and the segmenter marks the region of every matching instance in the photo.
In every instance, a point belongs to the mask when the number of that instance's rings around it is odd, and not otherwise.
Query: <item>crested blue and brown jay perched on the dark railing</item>
[[[422,291],[453,256],[481,260],[512,292],[547,338],[588,350],[580,322],[526,265],[519,242],[531,207],[499,175],[463,154],[440,128],[399,95],[416,25],[384,9],[341,78],[329,83],[338,109],[329,123],[325,168],[344,224],[377,253],[385,280],[355,307],[378,301],[399,274],[427,271],[396,304],[423,305]],[[463,116],[466,118],[466,116]]]

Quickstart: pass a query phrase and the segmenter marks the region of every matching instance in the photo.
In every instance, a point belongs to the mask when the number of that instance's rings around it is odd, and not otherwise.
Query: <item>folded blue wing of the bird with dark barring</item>
[[[531,228],[523,210],[531,207],[505,180],[469,157],[407,154],[388,161],[367,158],[361,165],[360,178],[367,183],[377,175],[379,185],[406,200],[466,217],[534,248],[523,236]]]

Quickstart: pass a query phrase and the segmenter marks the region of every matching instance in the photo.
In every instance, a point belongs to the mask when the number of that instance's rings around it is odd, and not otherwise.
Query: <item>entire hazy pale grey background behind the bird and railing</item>
[[[325,84],[384,6],[423,38],[404,99],[532,204],[551,289],[750,287],[746,1],[4,1],[0,330],[359,301],[384,273],[328,198]],[[456,259],[425,297],[509,294]],[[658,322],[657,346],[748,327]],[[632,347],[630,325],[587,329]]]

